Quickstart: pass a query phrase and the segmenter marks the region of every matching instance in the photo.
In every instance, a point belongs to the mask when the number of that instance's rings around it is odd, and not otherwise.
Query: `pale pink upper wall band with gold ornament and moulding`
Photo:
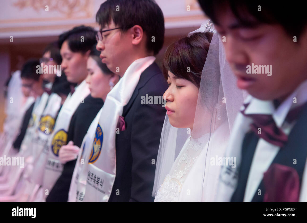
[[[0,43],[10,36],[55,36],[73,26],[97,27],[101,0],[0,0]],[[157,0],[165,28],[199,26],[204,20],[196,0]],[[187,8],[190,8],[188,11]],[[136,9],[137,10],[137,9]]]

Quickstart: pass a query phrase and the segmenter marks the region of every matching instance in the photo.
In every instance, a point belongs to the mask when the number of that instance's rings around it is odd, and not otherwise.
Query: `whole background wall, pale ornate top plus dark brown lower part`
[[[3,85],[17,69],[17,57],[39,57],[48,43],[74,26],[90,25],[98,29],[95,14],[102,2],[104,0],[0,0],[0,131],[5,118]],[[205,17],[196,0],[156,2],[165,18],[165,44],[156,60],[160,64],[168,44],[199,28]]]

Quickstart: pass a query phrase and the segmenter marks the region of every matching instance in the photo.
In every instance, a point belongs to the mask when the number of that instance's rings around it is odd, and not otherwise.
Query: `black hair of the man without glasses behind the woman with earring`
[[[86,53],[93,45],[97,44],[95,35],[96,31],[93,27],[84,25],[74,27],[59,36],[59,48],[67,40],[72,52]],[[84,37],[84,42],[81,42],[81,36]]]

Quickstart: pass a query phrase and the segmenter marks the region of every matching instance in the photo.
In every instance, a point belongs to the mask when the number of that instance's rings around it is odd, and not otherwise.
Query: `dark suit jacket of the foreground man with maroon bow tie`
[[[307,103],[304,108],[297,115],[297,120],[293,129],[290,131],[288,141],[285,146],[281,147],[276,154],[271,164],[282,164],[294,168],[299,176],[300,186],[302,182],[303,173],[305,170],[305,162],[307,158]],[[249,132],[245,135],[242,145],[242,163],[239,169],[239,180],[236,190],[234,191],[231,201],[243,202],[246,190],[247,179],[251,168],[252,159],[254,157],[255,149],[259,137],[254,132]],[[293,159],[297,159],[297,164],[293,164]],[[261,190],[261,195],[258,190]],[[264,187],[263,179],[255,191],[252,202],[262,202],[266,188]]]

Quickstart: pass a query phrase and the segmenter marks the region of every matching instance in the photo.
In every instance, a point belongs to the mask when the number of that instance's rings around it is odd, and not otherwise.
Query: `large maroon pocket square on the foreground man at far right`
[[[298,202],[300,180],[294,168],[272,164],[264,173],[263,184],[264,202]]]

